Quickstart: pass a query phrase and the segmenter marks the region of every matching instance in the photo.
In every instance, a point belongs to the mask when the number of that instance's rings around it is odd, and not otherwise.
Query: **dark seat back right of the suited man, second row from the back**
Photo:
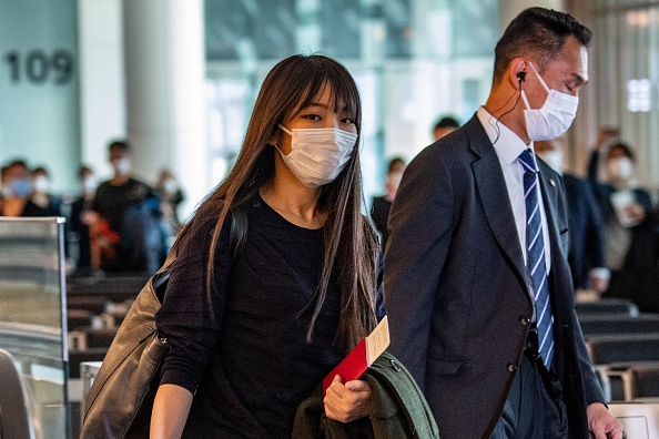
[[[586,314],[579,316],[586,338],[599,334],[659,333],[659,314],[639,314],[636,317],[621,314]]]

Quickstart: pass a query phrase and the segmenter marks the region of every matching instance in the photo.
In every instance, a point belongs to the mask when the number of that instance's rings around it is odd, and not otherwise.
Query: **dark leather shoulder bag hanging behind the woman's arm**
[[[232,261],[247,235],[245,212],[234,208],[230,231]],[[169,349],[158,334],[160,308],[175,255],[148,282],[129,309],[84,401],[80,437],[148,438],[153,400],[160,385],[160,366]]]

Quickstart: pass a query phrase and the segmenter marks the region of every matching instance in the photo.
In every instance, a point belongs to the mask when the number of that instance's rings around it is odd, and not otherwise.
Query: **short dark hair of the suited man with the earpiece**
[[[562,52],[568,37],[584,45],[592,33],[572,16],[551,9],[529,8],[506,28],[495,48],[494,83],[498,83],[515,58],[531,57],[543,71],[549,61]]]

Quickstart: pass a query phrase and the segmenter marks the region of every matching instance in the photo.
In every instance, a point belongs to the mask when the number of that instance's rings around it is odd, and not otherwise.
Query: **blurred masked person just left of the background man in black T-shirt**
[[[78,261],[75,273],[80,275],[92,274],[91,241],[89,225],[95,220],[92,212],[92,202],[97,194],[99,182],[94,171],[89,166],[80,166],[78,172],[80,184],[80,196],[71,204],[71,232],[75,235],[78,243]]]

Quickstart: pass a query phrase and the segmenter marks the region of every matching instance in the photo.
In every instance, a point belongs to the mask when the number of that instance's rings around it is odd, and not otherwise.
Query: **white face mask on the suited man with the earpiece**
[[[524,104],[527,108],[527,110],[524,110],[526,133],[531,141],[554,140],[565,133],[572,124],[577,115],[579,98],[550,90],[534,64],[530,62],[528,64],[534,69],[549,95],[540,109],[531,109],[526,93],[524,90],[521,91],[521,99],[524,99]]]

